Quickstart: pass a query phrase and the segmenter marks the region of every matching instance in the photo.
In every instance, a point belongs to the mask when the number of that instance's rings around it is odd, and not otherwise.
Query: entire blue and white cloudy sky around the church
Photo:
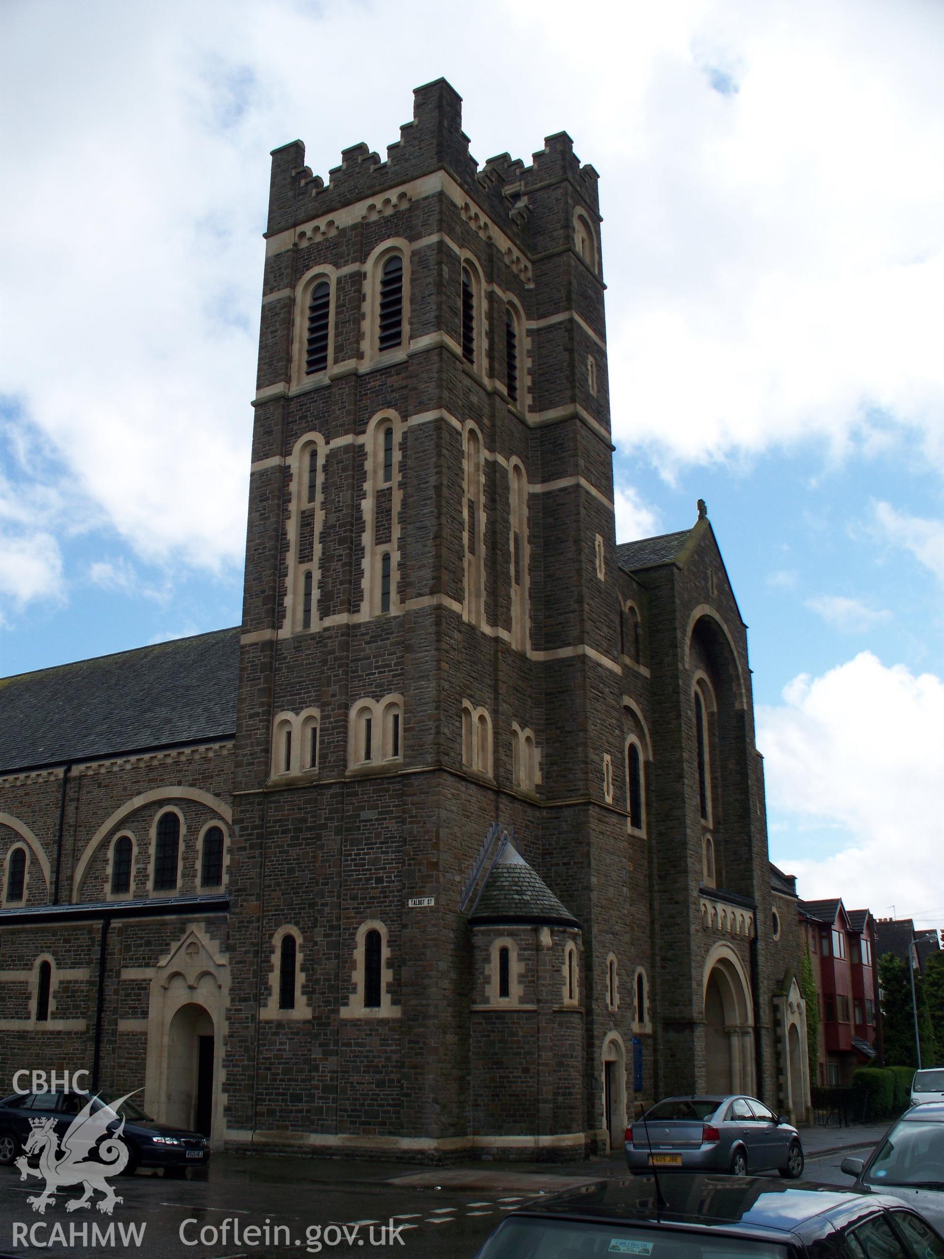
[[[709,515],[770,856],[944,927],[939,0],[6,0],[0,675],[235,624],[269,150],[600,172],[617,535]]]

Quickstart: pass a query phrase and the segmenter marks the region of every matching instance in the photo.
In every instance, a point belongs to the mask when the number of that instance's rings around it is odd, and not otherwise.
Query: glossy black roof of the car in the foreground
[[[527,1215],[585,1220],[699,1224],[783,1241],[784,1234],[806,1231],[804,1226],[812,1221],[841,1228],[850,1215],[871,1214],[889,1205],[901,1206],[901,1202],[806,1181],[787,1183],[756,1176],[675,1172],[661,1176],[658,1187],[656,1177],[649,1175],[597,1181],[521,1210]]]

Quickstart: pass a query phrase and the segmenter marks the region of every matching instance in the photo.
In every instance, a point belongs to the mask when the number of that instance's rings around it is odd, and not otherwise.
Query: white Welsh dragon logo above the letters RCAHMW
[[[98,1099],[89,1098],[64,1133],[62,1148],[54,1119],[30,1121],[31,1131],[23,1147],[25,1153],[16,1160],[16,1166],[20,1180],[28,1176],[45,1178],[45,1190],[26,1199],[34,1211],[44,1215],[55,1191],[68,1185],[82,1185],[86,1192],[82,1197],[70,1199],[65,1204],[67,1211],[89,1207],[96,1190],[103,1195],[96,1205],[104,1215],[112,1214],[116,1202],[123,1202],[108,1183],[108,1177],[117,1176],[127,1166],[128,1148],[121,1139],[125,1118],[115,1132],[108,1132],[108,1126],[115,1123],[118,1107],[130,1097],[131,1093],[126,1093],[111,1107],[99,1105],[97,1110],[92,1107]],[[26,1156],[37,1153],[39,1167],[30,1167]]]

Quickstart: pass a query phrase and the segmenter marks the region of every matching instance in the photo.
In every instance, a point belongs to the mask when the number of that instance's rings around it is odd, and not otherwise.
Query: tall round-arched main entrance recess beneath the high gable
[[[754,1093],[754,1003],[741,959],[719,942],[705,958],[705,1090]]]

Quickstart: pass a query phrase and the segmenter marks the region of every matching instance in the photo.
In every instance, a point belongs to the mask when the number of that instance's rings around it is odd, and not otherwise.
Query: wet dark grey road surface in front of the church
[[[865,1152],[886,1126],[804,1128],[808,1180],[850,1186],[845,1153]],[[191,1172],[193,1175],[193,1172]],[[87,1259],[135,1250],[141,1259],[254,1259],[307,1254],[472,1259],[505,1212],[531,1197],[627,1175],[622,1153],[569,1163],[461,1162],[419,1167],[402,1162],[297,1156],[216,1155],[199,1178],[174,1181],[138,1172],[115,1186],[115,1216],[68,1211],[76,1191],[60,1190],[44,1216],[34,1214],[15,1168],[0,1168],[0,1255],[65,1248]],[[92,1226],[135,1225],[140,1241],[98,1245]],[[23,1233],[23,1229],[39,1231]],[[87,1235],[82,1234],[87,1226]],[[78,1234],[70,1233],[72,1229]],[[276,1228],[282,1233],[272,1233]],[[16,1229],[16,1231],[14,1231]],[[269,1234],[266,1230],[269,1230]],[[254,1233],[253,1233],[254,1230]],[[345,1233],[345,1230],[347,1230]],[[74,1241],[73,1241],[74,1236]]]

